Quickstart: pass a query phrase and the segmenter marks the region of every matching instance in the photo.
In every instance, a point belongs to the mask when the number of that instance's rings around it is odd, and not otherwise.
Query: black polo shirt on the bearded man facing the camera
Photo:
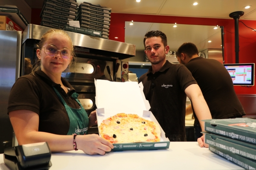
[[[185,89],[197,84],[190,71],[182,64],[172,64],[168,60],[156,73],[152,67],[143,74],[139,83],[157,121],[170,141],[186,141]]]

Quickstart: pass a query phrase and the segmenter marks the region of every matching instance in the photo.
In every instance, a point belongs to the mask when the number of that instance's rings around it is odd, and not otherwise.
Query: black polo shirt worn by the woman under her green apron
[[[8,101],[8,113],[22,109],[33,111],[39,115],[39,131],[66,135],[70,120],[53,87],[58,90],[71,108],[78,109],[80,106],[71,97],[75,89],[62,77],[61,81],[63,85],[70,88],[67,94],[60,84],[52,82],[41,70],[36,71],[34,75],[20,77],[12,87]]]

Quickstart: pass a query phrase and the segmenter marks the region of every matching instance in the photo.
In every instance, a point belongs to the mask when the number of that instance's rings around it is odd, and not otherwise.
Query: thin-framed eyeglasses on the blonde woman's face
[[[44,53],[47,56],[55,57],[58,53],[58,51],[61,51],[61,57],[63,59],[70,59],[71,57],[71,50],[69,48],[63,48],[62,50],[58,50],[57,47],[54,45],[47,44],[44,48]]]

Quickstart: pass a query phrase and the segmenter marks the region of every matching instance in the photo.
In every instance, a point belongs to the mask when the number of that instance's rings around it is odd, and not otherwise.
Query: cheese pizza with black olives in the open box
[[[99,134],[111,143],[160,142],[160,127],[137,114],[118,113],[102,121]]]

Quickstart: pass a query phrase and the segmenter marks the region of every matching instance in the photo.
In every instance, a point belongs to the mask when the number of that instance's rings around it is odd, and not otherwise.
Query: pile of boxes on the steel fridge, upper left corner
[[[23,32],[28,24],[17,6],[0,6],[0,30]]]

